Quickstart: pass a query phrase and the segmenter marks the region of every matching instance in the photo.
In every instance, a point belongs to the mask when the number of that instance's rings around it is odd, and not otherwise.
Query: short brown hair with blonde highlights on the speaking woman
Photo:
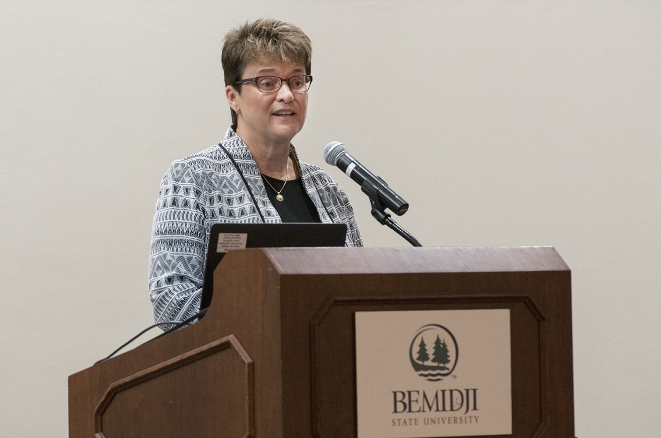
[[[247,65],[258,62],[301,64],[308,75],[312,71],[310,38],[293,24],[273,18],[259,18],[234,28],[225,35],[221,55],[225,85],[241,94],[241,79]],[[237,128],[237,113],[230,108],[232,125]]]

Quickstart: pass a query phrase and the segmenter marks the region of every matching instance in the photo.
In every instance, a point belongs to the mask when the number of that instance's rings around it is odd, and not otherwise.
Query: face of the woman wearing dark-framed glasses
[[[242,79],[260,76],[290,78],[305,75],[299,64],[249,64]],[[254,82],[241,86],[241,94],[232,86],[225,88],[230,106],[238,113],[237,134],[248,144],[289,144],[293,136],[303,129],[307,113],[307,92],[295,93],[284,82],[280,90],[264,93]]]

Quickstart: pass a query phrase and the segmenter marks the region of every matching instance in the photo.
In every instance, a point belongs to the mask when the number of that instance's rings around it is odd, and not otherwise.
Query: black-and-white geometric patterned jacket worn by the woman
[[[344,191],[321,168],[300,162],[293,146],[290,156],[321,222],[346,224],[346,246],[362,246]],[[200,310],[209,233],[218,222],[281,222],[253,155],[231,127],[217,146],[173,162],[161,181],[149,258],[157,323]]]

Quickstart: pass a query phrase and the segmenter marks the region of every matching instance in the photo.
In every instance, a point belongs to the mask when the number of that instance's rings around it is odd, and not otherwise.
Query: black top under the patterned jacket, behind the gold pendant
[[[264,185],[266,186],[268,199],[270,199],[273,206],[278,210],[282,222],[321,222],[317,208],[305,192],[305,187],[303,187],[300,178],[287,181],[284,189],[280,192],[280,195],[284,197],[282,201],[276,199],[278,193],[273,187],[280,190],[285,181],[266,175],[262,175],[262,178],[266,179]],[[273,187],[270,187],[268,183],[271,183]]]

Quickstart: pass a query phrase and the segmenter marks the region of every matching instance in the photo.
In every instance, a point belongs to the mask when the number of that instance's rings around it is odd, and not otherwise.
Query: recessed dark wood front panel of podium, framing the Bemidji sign
[[[528,297],[418,297],[418,298],[375,298],[375,299],[332,299],[327,302],[320,315],[311,323],[312,351],[312,410],[316,419],[315,436],[332,436],[341,427],[341,436],[354,436],[356,418],[356,372],[355,356],[343,354],[354,348],[354,332],[338,332],[335,327],[352,327],[357,311],[430,311],[469,309],[509,309],[512,334],[512,423],[524,437],[541,436],[539,431],[546,427],[542,418],[543,392],[549,382],[547,361],[542,360],[543,346],[539,345],[543,317]],[[369,303],[369,305],[368,305]],[[385,341],[384,341],[385,342]],[[395,346],[397,347],[397,346]],[[515,348],[516,347],[516,348]],[[393,348],[395,350],[395,348]],[[383,358],[393,360],[393,358]],[[336,370],[350,369],[350,373],[338,375]],[[516,385],[514,383],[516,382]],[[448,388],[447,385],[439,385]],[[352,391],[346,391],[347,388]],[[416,387],[417,388],[417,387]],[[452,388],[451,386],[449,388]],[[325,416],[324,412],[334,412]],[[395,419],[397,416],[393,416]],[[313,422],[314,423],[314,422]],[[436,435],[434,435],[436,436]]]

